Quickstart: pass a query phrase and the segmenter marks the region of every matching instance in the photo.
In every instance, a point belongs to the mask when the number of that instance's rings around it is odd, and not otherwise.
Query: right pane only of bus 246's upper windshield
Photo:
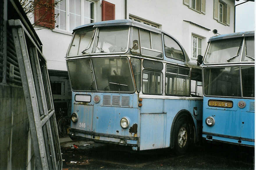
[[[99,27],[92,53],[123,53],[127,51],[129,26]]]

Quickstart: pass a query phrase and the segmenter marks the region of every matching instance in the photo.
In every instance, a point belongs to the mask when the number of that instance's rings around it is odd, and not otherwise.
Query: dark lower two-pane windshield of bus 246
[[[127,57],[70,60],[67,67],[74,91],[135,91]]]

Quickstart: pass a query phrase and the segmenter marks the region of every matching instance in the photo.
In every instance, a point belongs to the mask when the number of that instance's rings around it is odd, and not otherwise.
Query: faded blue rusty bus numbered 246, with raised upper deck
[[[202,70],[175,38],[131,20],[73,34],[66,56],[72,139],[182,154],[201,138]]]

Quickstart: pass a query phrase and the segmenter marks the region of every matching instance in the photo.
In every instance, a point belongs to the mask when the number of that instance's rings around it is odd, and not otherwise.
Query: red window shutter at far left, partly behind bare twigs
[[[35,25],[54,28],[54,0],[35,0]]]

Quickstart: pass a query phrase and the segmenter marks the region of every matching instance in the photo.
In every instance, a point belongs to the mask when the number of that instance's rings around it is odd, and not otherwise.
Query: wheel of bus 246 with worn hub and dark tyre
[[[177,155],[185,154],[189,148],[189,123],[184,120],[178,120],[174,128],[174,149]]]

